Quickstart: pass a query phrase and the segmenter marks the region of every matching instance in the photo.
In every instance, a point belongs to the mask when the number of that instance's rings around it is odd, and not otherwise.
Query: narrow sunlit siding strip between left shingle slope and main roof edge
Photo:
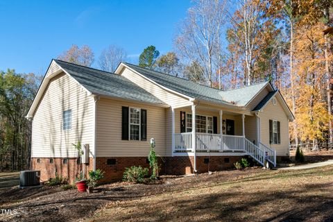
[[[139,76],[139,74],[136,74],[134,71],[131,71],[128,68],[124,68],[121,71],[121,76],[128,78],[128,80],[139,85],[139,87],[142,87],[147,92],[150,92],[151,94],[153,94],[153,96],[156,96],[158,99],[160,99],[164,103],[167,103],[168,105],[171,105],[173,107],[191,105],[191,102],[188,99],[185,99],[178,94],[174,94],[172,92],[168,92],[165,89],[162,89],[162,87],[151,83],[151,81],[146,80],[146,78]]]

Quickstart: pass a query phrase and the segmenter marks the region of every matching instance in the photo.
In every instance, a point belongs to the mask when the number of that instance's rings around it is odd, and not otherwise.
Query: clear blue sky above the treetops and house
[[[166,53],[190,6],[190,0],[1,0],[0,70],[44,75],[71,44],[89,45],[95,60],[110,44],[123,47],[132,62],[151,44]]]

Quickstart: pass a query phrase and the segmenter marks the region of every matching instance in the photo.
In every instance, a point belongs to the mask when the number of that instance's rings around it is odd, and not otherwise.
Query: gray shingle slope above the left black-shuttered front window
[[[61,60],[55,61],[92,94],[167,105],[123,76]]]

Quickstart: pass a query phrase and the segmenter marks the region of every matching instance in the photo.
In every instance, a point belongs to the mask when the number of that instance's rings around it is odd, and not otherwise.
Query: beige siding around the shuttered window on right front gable
[[[280,101],[278,99],[276,101],[276,105],[273,105],[272,101],[268,101],[264,110],[259,112],[261,142],[268,147],[275,148],[277,155],[289,155],[288,117]],[[280,121],[281,144],[269,144],[269,119]]]

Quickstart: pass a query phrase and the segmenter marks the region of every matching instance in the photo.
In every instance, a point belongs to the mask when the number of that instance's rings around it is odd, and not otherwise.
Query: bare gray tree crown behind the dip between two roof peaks
[[[123,62],[127,58],[125,49],[110,45],[104,49],[99,56],[99,67],[104,71],[113,72],[117,68],[120,62]]]

